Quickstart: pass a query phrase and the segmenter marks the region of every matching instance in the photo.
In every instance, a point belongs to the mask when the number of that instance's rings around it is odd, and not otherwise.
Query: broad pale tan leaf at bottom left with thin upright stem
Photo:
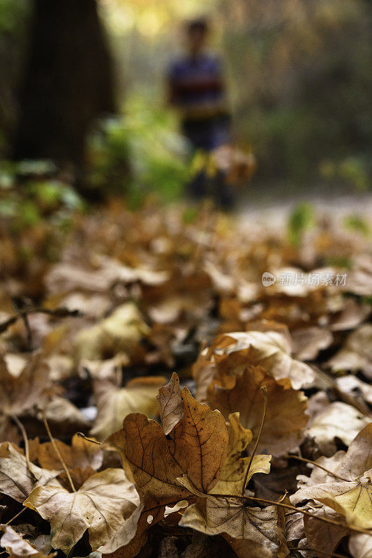
[[[135,536],[142,507],[122,469],[96,473],[77,490],[39,486],[24,501],[50,522],[52,547],[66,554],[89,531],[92,550],[114,552]],[[118,542],[119,541],[119,542]]]

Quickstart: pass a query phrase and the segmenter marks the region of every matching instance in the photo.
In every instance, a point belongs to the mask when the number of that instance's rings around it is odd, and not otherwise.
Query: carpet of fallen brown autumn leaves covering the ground
[[[371,242],[269,225],[0,229],[4,556],[372,557]]]

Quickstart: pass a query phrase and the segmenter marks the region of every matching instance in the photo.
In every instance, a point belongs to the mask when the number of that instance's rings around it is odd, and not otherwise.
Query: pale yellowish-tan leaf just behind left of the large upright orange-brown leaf
[[[164,377],[149,376],[135,378],[124,388],[119,388],[107,380],[95,380],[94,395],[98,414],[91,435],[100,440],[105,439],[121,428],[124,418],[130,413],[141,412],[156,416],[156,393],[164,382]]]

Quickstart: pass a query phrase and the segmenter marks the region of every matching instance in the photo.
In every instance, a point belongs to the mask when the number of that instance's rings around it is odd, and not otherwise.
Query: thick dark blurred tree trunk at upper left
[[[34,0],[15,159],[82,165],[92,121],[114,112],[112,64],[95,0]]]

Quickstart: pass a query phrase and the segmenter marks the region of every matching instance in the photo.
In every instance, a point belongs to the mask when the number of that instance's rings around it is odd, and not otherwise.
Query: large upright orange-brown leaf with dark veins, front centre
[[[228,451],[223,416],[196,401],[186,388],[181,398],[184,416],[169,435],[155,421],[133,413],[124,419],[122,430],[105,440],[106,446],[121,455],[124,470],[144,502],[128,556],[135,555],[143,545],[149,526],[163,519],[165,506],[192,497],[191,491],[179,484],[185,472],[203,491],[211,490],[221,473]]]

